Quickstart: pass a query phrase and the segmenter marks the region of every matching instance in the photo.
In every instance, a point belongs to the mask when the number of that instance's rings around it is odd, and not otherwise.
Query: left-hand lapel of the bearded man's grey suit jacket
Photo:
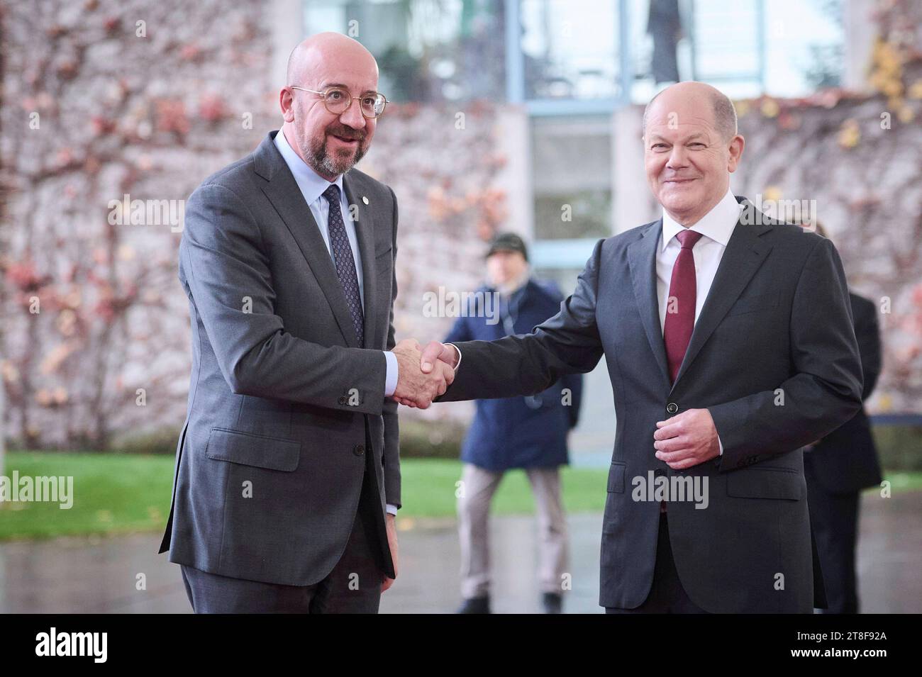
[[[333,259],[326,249],[324,238],[320,234],[310,207],[304,202],[301,189],[298,188],[294,177],[291,176],[285,160],[278,153],[273,136],[274,134],[269,134],[256,150],[255,171],[267,180],[262,186],[263,193],[266,193],[266,197],[276,208],[278,216],[281,216],[290,230],[291,237],[298,243],[301,254],[307,260],[307,264],[317,279],[317,284],[320,285],[327,302],[330,304],[330,308],[333,309],[333,315],[337,320],[337,325],[339,325],[339,332],[342,333],[346,344],[351,348],[358,348],[360,347],[359,339],[355,335],[352,315],[349,312],[349,305],[346,302],[346,295],[343,293],[342,285],[339,284]],[[346,217],[347,215],[343,216]],[[364,259],[363,254],[362,260]],[[364,268],[362,268],[362,272],[364,273]],[[367,292],[366,287],[366,303],[368,302]],[[365,334],[367,335],[368,331]]]

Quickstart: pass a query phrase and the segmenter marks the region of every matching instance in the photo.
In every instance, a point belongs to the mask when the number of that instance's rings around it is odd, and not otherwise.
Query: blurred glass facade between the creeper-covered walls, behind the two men
[[[845,43],[842,0],[308,0],[304,29],[365,44],[391,100],[523,105],[545,270],[612,232],[612,111],[689,79],[804,96],[840,83]]]

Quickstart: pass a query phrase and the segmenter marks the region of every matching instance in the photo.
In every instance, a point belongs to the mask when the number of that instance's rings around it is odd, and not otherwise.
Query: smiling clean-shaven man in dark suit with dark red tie
[[[810,613],[804,445],[861,405],[845,274],[828,239],[729,192],[745,141],[702,83],[644,112],[663,216],[600,240],[533,333],[455,345],[438,401],[542,391],[604,354],[617,433],[602,522],[610,613]]]

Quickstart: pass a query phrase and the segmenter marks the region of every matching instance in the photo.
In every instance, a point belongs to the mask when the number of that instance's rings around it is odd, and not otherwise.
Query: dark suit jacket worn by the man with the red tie
[[[539,392],[604,354],[617,434],[602,521],[602,606],[636,608],[656,563],[659,502],[638,478],[707,479],[708,506],[668,503],[676,569],[715,613],[810,613],[814,569],[802,447],[861,406],[861,363],[833,244],[746,208],[727,243],[674,384],[656,298],[662,220],[599,240],[561,311],[530,334],[457,344],[440,401]],[[707,408],[723,456],[673,471],[656,422]],[[649,474],[648,474],[649,473]],[[696,479],[697,478],[697,479]],[[659,481],[659,480],[656,480]],[[688,484],[686,484],[687,486]]]

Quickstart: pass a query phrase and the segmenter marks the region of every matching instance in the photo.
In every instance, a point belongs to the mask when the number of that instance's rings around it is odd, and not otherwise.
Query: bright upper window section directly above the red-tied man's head
[[[629,10],[635,103],[677,72],[734,99],[841,83],[842,0],[630,0]]]

